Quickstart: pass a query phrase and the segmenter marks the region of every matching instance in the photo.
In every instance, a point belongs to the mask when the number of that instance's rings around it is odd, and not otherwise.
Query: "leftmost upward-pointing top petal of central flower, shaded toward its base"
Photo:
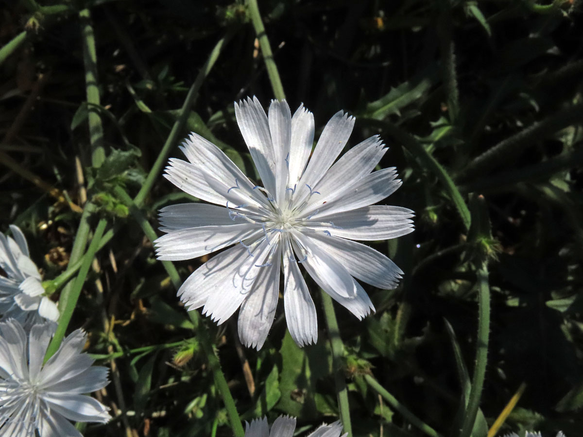
[[[272,196],[275,195],[275,155],[269,122],[257,97],[235,103],[235,118],[263,186]]]

